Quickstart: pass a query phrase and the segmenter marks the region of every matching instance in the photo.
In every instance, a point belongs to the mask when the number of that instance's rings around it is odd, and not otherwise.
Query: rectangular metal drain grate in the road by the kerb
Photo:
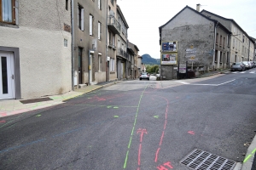
[[[198,170],[232,170],[236,166],[236,161],[230,161],[198,149],[193,150],[180,162]]]

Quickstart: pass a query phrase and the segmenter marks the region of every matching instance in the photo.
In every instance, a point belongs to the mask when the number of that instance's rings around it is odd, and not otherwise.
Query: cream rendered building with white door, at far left
[[[71,91],[70,0],[0,0],[0,7],[0,99]]]

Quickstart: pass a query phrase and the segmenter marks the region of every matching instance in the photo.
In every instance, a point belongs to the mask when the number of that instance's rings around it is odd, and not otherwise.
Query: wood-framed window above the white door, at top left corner
[[[15,24],[15,0],[0,0],[0,22]]]

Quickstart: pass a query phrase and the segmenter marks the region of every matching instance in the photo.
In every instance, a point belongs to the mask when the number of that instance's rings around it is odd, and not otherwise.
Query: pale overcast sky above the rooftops
[[[160,59],[159,27],[186,5],[206,9],[233,19],[250,37],[256,38],[256,0],[117,0],[129,26],[128,39],[137,45],[139,54]]]

